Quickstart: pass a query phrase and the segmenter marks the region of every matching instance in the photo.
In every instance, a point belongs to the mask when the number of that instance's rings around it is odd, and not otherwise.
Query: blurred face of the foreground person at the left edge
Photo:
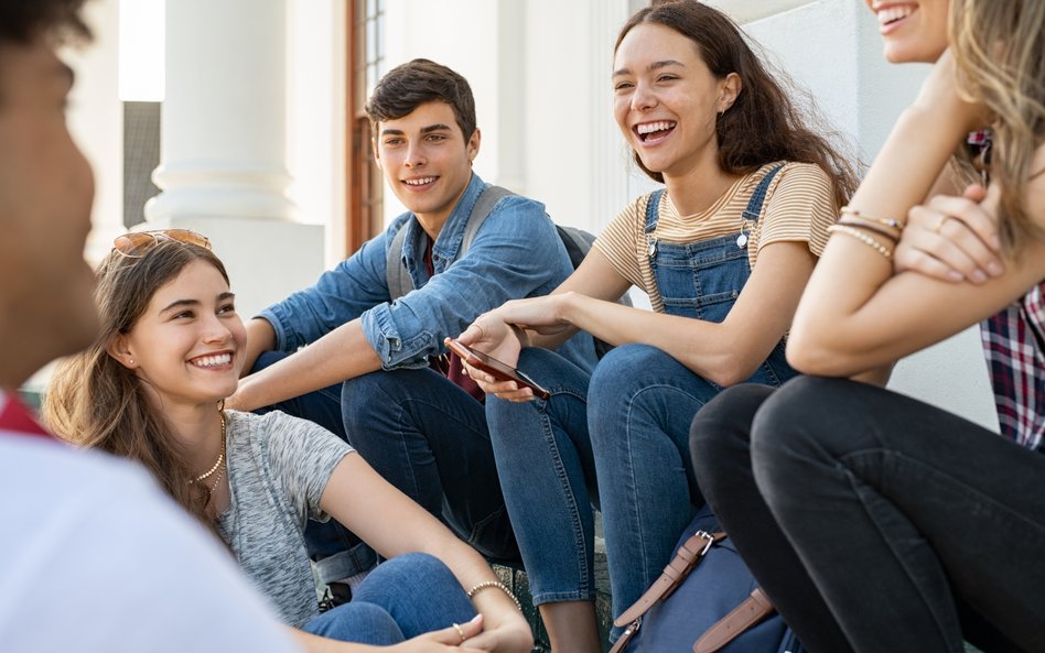
[[[65,124],[73,76],[44,43],[0,44],[0,387],[90,344],[94,177]]]

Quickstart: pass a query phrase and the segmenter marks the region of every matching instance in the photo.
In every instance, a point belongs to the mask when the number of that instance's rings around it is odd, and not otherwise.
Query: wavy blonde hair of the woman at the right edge
[[[1019,255],[1027,240],[1045,236],[1023,205],[1027,182],[1042,174],[1032,165],[1045,142],[1045,2],[951,0],[948,30],[959,92],[994,116],[999,230],[1005,250]]]

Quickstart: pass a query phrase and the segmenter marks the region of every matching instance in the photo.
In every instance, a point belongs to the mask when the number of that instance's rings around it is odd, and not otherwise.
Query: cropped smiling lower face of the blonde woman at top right
[[[864,0],[879,20],[885,58],[894,64],[933,63],[947,48],[949,0]]]

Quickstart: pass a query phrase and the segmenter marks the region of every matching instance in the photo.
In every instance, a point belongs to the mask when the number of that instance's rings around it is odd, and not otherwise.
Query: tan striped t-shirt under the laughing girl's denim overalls
[[[777,165],[769,163],[741,177],[707,210],[691,216],[680,216],[671,197],[666,196],[660,203],[654,236],[665,242],[688,243],[737,233],[742,227],[746,230],[748,225],[742,214],[747,202],[762,177]],[[646,291],[653,309],[662,313],[664,302],[647,255],[648,199],[649,195],[644,195],[625,206],[593,247],[621,276]],[[827,244],[827,228],[837,219],[838,206],[828,174],[811,163],[786,163],[769,183],[762,216],[747,235],[751,268],[755,266],[758,251],[772,242],[808,242],[809,250],[819,257]]]

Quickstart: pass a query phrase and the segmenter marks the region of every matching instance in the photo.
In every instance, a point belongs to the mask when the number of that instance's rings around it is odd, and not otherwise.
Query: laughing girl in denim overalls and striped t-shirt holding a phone
[[[592,503],[617,616],[660,574],[703,503],[688,427],[723,387],[778,385],[783,339],[854,185],[736,25],[691,0],[643,9],[617,40],[615,118],[665,189],[627,205],[550,296],[509,302],[461,339],[550,391],[470,369],[553,651],[600,650]],[[632,285],[653,311],[614,303]],[[593,374],[546,349],[578,329],[615,345]],[[597,478],[597,483],[596,483]]]

